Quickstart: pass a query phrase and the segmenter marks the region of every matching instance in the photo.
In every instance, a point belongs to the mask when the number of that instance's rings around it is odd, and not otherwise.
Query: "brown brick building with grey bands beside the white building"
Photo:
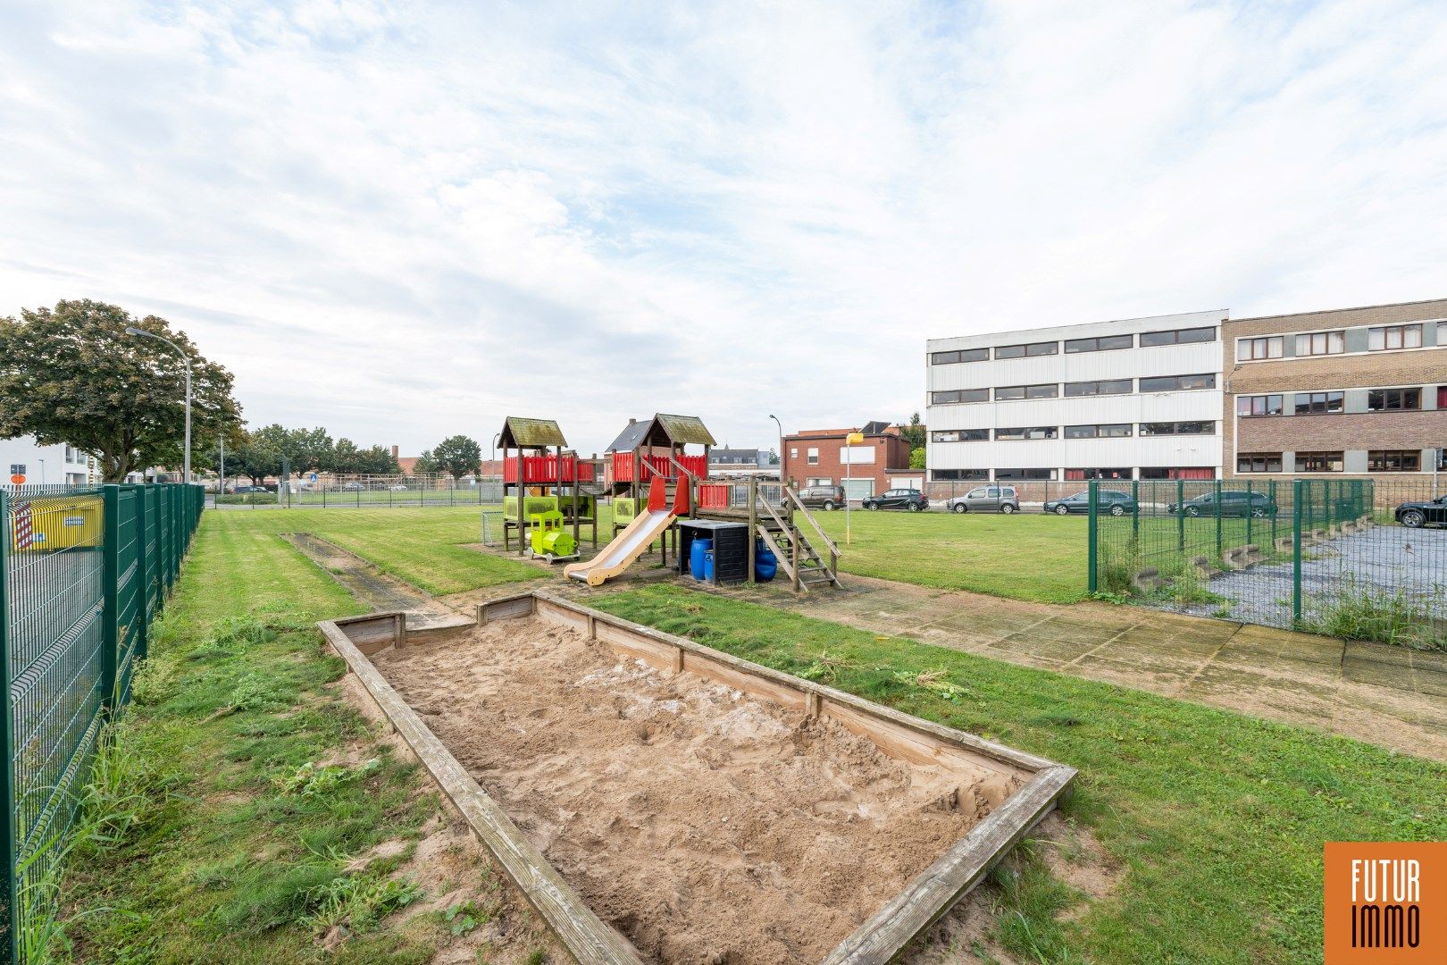
[[[1447,299],[1223,323],[1226,475],[1447,472]]]

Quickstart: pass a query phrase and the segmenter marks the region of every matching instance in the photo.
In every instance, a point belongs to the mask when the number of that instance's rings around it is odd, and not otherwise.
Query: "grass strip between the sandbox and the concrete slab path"
[[[589,602],[1079,768],[1065,813],[1126,875],[1077,920],[1040,868],[1010,877],[1023,961],[1320,961],[1323,842],[1447,839],[1441,764],[682,587]]]

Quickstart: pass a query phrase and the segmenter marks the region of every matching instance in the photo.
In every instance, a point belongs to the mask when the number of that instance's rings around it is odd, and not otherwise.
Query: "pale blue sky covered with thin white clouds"
[[[0,4],[0,315],[415,454],[906,420],[925,340],[1447,297],[1447,7]]]

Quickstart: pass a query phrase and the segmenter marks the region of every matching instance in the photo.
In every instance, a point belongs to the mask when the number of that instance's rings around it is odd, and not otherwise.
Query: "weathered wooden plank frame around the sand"
[[[689,671],[806,716],[832,718],[871,739],[890,757],[915,764],[952,762],[1006,774],[1024,771],[1024,786],[952,843],[903,891],[844,939],[823,965],[893,961],[916,936],[969,893],[1026,833],[1055,807],[1075,768],[1011,749],[972,734],[915,718],[842,690],[802,680],[712,650],[692,639],[634,624],[546,592],[519,593],[478,605],[478,625],[540,616],[572,626],[663,673]],[[382,715],[472,826],[512,883],[579,962],[641,965],[627,938],[602,922],[561,874],[467,774],[417,712],[382,677],[370,655],[456,635],[408,631],[402,613],[372,613],[318,624],[327,642]],[[463,628],[464,629],[464,628]]]

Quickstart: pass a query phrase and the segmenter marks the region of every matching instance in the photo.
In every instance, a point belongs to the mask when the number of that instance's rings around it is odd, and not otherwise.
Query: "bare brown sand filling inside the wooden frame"
[[[538,619],[375,660],[651,961],[818,962],[1019,784]]]

